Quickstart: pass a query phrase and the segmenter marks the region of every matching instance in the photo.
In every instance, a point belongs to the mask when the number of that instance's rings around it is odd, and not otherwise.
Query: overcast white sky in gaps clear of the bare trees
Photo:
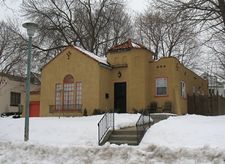
[[[127,0],[127,8],[131,14],[140,13],[146,9],[148,0]],[[19,5],[22,0],[6,0],[3,5],[0,3],[0,20],[7,20],[8,17],[21,19],[21,14],[19,12]]]

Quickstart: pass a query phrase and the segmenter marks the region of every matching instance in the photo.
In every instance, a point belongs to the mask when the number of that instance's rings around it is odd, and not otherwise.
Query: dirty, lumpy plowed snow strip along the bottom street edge
[[[4,164],[222,164],[225,151],[201,149],[169,149],[159,146],[105,145],[102,147],[54,147],[0,142],[0,163]]]

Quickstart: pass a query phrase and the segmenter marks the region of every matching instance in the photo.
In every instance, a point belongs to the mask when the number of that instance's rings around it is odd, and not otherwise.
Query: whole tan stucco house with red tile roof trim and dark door
[[[171,112],[187,113],[187,94],[208,94],[208,83],[176,58],[154,61],[153,53],[131,42],[98,57],[68,46],[42,68],[41,116],[90,115],[94,109],[129,112],[146,109],[152,102],[157,111],[171,104]]]

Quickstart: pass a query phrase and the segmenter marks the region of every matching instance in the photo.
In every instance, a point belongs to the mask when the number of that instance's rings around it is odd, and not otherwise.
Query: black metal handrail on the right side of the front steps
[[[142,112],[137,123],[136,123],[136,130],[137,130],[137,143],[139,144],[144,137],[147,127],[150,127],[151,124],[151,117],[150,113]]]

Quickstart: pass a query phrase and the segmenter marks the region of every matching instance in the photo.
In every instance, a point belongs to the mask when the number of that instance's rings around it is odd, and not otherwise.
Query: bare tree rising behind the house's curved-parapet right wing
[[[186,66],[195,66],[197,33],[190,22],[181,21],[184,17],[164,11],[146,12],[137,18],[138,39],[154,52],[155,59],[175,56]]]

